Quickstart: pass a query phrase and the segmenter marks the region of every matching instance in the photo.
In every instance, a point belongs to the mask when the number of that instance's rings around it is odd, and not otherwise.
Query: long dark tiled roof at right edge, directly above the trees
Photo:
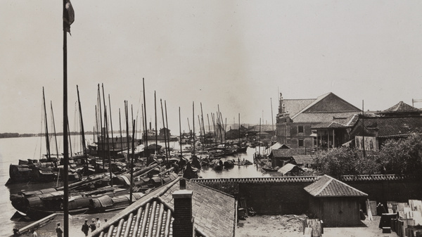
[[[378,137],[408,136],[422,129],[422,116],[369,117],[364,119],[366,129],[378,129]]]

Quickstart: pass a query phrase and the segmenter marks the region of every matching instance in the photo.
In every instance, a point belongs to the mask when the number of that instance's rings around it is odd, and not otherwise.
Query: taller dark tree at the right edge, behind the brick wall
[[[421,155],[422,136],[416,133],[406,139],[386,141],[379,152],[385,174],[420,174]]]

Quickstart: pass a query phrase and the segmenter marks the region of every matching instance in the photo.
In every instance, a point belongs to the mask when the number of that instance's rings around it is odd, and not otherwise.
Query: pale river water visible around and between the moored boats
[[[72,142],[72,150],[75,153],[79,149],[77,141],[79,136],[72,136],[70,141]],[[58,138],[58,150],[59,153],[63,152],[63,146],[61,142],[63,139]],[[155,143],[154,141],[148,141],[148,144]],[[159,142],[161,146],[164,146],[164,143]],[[180,145],[177,141],[170,142],[170,147],[175,150],[180,150]],[[184,148],[184,146],[182,146]],[[56,146],[51,146],[51,150],[56,150]],[[80,150],[80,149],[79,149]],[[246,153],[238,153],[234,156],[229,156],[226,159],[235,159],[240,158],[241,160],[249,160],[253,162],[253,154],[257,151],[257,148],[248,148]],[[15,214],[15,208],[11,205],[9,200],[11,193],[18,193],[23,190],[37,190],[41,188],[50,188],[51,186],[56,186],[56,184],[13,184],[5,186],[8,181],[9,174],[8,169],[11,164],[18,164],[18,160],[27,160],[27,159],[39,159],[42,154],[46,153],[45,148],[45,138],[34,136],[34,137],[23,137],[23,138],[10,138],[10,139],[0,139],[0,236],[10,236],[13,234],[13,228],[20,229],[23,226],[27,226],[32,222],[15,222],[11,220],[13,214]],[[51,153],[56,153],[51,151]],[[247,177],[271,177],[271,176],[281,176],[279,172],[264,172],[264,170],[256,167],[255,165],[248,166],[236,166],[232,169],[224,169],[219,172],[215,172],[211,168],[203,168],[199,172],[199,176],[204,179],[214,179],[214,178],[247,178]],[[60,185],[60,184],[59,184]],[[80,217],[84,218],[84,217]],[[88,217],[89,218],[89,217]],[[79,231],[79,226],[70,226],[70,228]]]

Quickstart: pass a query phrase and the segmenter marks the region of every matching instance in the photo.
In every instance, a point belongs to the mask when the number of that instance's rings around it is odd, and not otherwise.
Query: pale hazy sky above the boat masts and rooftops
[[[162,100],[172,134],[179,134],[179,108],[188,132],[201,104],[205,124],[218,109],[229,124],[239,114],[241,123],[275,123],[279,93],[333,92],[358,108],[364,101],[364,110],[422,99],[422,1],[72,0],[72,6],[72,131],[79,131],[76,87],[85,130],[92,131],[98,84],[113,129],[119,108],[124,123],[124,101],[139,120],[145,104],[154,127],[155,93],[158,127]],[[52,103],[56,130],[63,130],[62,8],[61,1],[0,1],[0,132],[44,131],[43,87],[47,117]]]

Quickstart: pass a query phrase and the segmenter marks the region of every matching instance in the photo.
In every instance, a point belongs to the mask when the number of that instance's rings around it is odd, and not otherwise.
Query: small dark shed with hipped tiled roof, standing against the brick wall
[[[325,227],[362,224],[359,201],[368,194],[328,175],[306,186],[305,191],[310,194],[309,211],[323,220]]]

